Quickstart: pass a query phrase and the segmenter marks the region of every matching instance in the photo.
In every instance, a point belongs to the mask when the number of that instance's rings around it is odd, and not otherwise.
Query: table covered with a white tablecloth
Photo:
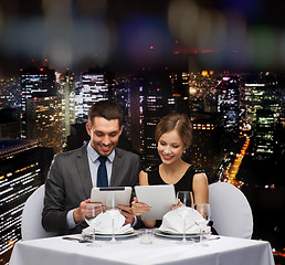
[[[81,235],[76,235],[80,237]],[[61,236],[18,242],[9,265],[274,265],[268,242],[221,236],[207,247],[179,245],[178,241],[155,236],[154,244],[142,245],[138,236],[102,247],[62,240]]]

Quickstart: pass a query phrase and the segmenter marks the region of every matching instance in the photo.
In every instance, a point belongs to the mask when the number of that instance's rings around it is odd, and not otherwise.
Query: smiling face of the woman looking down
[[[177,130],[171,130],[161,135],[158,140],[158,155],[163,163],[170,165],[181,159],[186,147]]]

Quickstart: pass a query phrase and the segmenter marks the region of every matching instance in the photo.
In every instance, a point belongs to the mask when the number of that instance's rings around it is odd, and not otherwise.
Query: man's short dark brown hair
[[[93,126],[95,117],[103,117],[105,119],[118,119],[119,128],[123,125],[123,114],[119,105],[116,102],[101,100],[95,103],[88,112],[88,123]]]

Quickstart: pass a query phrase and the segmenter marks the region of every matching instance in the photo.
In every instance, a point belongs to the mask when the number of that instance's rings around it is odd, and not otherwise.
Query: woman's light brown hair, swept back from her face
[[[192,124],[184,114],[172,113],[165,116],[156,127],[155,138],[159,138],[171,130],[177,130],[183,145],[188,148],[192,140]]]

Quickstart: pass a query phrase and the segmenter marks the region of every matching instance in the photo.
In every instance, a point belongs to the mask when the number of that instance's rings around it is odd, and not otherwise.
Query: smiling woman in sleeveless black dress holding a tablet
[[[156,127],[155,138],[162,163],[151,172],[140,171],[139,184],[173,184],[176,192],[192,191],[194,203],[208,203],[207,176],[202,170],[198,170],[181,158],[192,139],[192,128],[188,117],[177,113],[163,117]],[[138,216],[149,211],[150,208],[134,198],[131,210]],[[147,227],[154,227],[157,224],[156,220],[145,220],[142,222]]]

